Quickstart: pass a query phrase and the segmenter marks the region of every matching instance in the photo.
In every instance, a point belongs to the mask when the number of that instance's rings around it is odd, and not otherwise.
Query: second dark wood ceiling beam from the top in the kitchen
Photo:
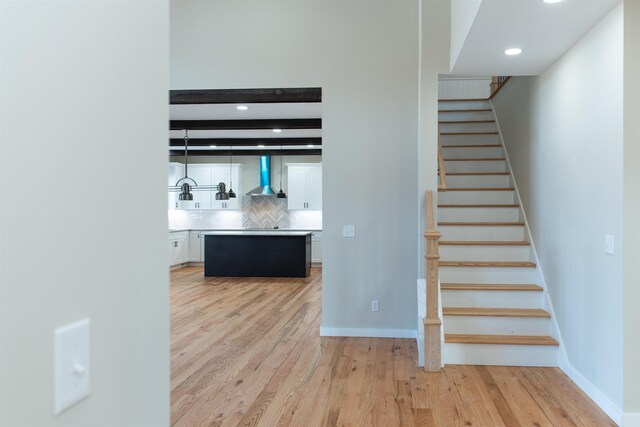
[[[171,120],[171,130],[322,129],[322,119]]]

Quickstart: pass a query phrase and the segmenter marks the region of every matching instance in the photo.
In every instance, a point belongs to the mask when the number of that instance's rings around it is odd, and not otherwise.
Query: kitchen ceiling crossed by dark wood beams
[[[169,153],[184,155],[186,129],[189,155],[317,155],[321,117],[319,88],[172,90]]]

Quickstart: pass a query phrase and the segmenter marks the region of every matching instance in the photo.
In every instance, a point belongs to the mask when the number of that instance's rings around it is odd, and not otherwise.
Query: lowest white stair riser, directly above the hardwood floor
[[[444,345],[444,363],[451,365],[558,366],[558,348],[542,345]]]

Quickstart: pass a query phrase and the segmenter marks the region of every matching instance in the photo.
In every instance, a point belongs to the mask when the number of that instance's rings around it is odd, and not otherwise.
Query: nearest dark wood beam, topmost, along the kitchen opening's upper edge
[[[171,104],[263,104],[322,102],[322,89],[188,89],[169,91]]]

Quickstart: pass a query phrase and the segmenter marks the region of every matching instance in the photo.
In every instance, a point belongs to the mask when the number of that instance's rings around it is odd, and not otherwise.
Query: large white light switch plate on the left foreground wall
[[[89,395],[91,320],[83,319],[54,331],[53,413],[60,414]]]

